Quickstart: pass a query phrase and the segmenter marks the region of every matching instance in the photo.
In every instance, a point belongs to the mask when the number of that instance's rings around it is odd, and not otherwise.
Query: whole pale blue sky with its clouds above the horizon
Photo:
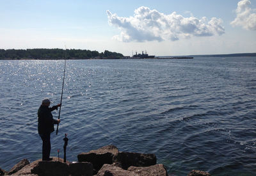
[[[0,1],[0,49],[256,52],[256,0]]]

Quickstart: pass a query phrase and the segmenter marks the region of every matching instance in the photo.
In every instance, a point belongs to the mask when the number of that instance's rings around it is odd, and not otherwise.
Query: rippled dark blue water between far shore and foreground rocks
[[[0,167],[40,159],[37,109],[60,102],[63,60],[0,61]],[[51,156],[115,145],[154,153],[169,174],[256,173],[256,58],[67,60]],[[53,111],[58,118],[58,111]]]

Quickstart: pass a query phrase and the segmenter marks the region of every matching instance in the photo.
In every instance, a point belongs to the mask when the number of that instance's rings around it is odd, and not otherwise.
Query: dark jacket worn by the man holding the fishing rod
[[[58,109],[58,106],[40,106],[38,109],[38,133],[39,134],[51,134],[54,131],[54,124],[58,124],[57,120],[52,117],[51,111]]]

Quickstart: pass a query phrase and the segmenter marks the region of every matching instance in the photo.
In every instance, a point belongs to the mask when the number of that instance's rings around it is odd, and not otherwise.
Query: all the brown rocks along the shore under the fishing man
[[[77,155],[78,162],[66,162],[58,157],[52,161],[38,159],[29,163],[22,159],[6,172],[0,168],[0,175],[86,175],[86,176],[168,176],[163,164],[157,164],[155,154],[119,152],[114,145]],[[188,173],[189,176],[210,174],[199,170]]]

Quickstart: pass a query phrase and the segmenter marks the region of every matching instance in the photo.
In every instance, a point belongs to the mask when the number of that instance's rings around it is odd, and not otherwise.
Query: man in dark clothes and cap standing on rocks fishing
[[[38,109],[38,134],[42,138],[43,147],[42,147],[42,160],[43,161],[51,161],[50,158],[51,153],[51,132],[54,131],[54,124],[60,124],[60,119],[53,119],[51,111],[58,110],[58,107],[61,104],[57,104],[56,106],[52,106],[49,108],[51,101],[49,99],[44,99],[40,108]]]

